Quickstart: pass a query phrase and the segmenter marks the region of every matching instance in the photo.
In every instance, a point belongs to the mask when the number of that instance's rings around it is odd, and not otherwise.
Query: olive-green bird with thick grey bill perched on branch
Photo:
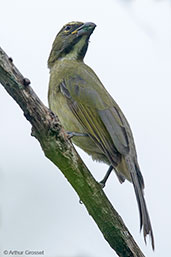
[[[153,231],[143,196],[144,181],[133,135],[121,109],[83,59],[96,25],[70,22],[57,34],[48,59],[50,109],[59,117],[72,141],[93,160],[109,165],[101,181],[114,170],[119,181],[133,183],[144,239]]]

